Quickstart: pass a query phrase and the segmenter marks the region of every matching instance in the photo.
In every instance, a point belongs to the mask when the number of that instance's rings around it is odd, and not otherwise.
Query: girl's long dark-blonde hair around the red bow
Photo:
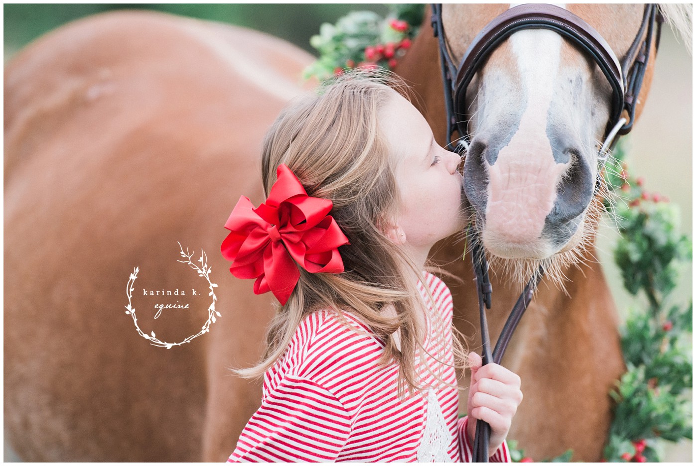
[[[380,362],[398,364],[400,394],[404,387],[409,393],[422,388],[416,371],[416,355],[425,339],[418,319],[418,312],[425,310],[416,283],[421,275],[384,232],[401,205],[394,157],[378,121],[394,90],[408,98],[407,86],[392,74],[348,73],[317,93],[295,99],[271,125],[262,152],[266,194],[276,181],[276,168],[285,163],[308,195],[333,201],[331,215],[350,244],[339,248],[344,273],[300,268],[296,288],[270,323],[262,360],[235,371],[239,375],[261,376],[283,356],[305,316],[331,309],[345,324],[342,311],[351,312],[386,342]],[[395,340],[397,330],[400,342]],[[454,338],[455,366],[461,367],[465,358]]]

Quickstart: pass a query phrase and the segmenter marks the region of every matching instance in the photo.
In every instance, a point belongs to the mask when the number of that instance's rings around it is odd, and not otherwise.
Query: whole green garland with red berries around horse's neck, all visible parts
[[[322,24],[310,43],[319,59],[306,77],[329,79],[351,68],[383,67],[393,70],[418,33],[422,4],[392,4],[388,17],[370,11],[352,12],[333,24]],[[644,296],[647,305],[631,307],[621,329],[626,373],[610,396],[614,420],[603,461],[659,461],[658,440],[677,442],[692,438],[691,360],[692,303],[672,303],[680,262],[690,261],[691,241],[679,234],[679,211],[667,198],[644,190],[643,180],[629,175],[619,144],[607,161],[604,177],[612,199],[605,207],[615,219],[620,238],[614,259],[624,287]],[[532,458],[509,440],[512,460]],[[568,450],[552,462],[567,462]]]

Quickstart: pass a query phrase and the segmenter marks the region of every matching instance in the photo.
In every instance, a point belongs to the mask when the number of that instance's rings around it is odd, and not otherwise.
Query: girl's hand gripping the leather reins
[[[471,386],[466,410],[469,421],[467,433],[474,444],[476,421],[482,419],[491,425],[489,452],[491,455],[503,444],[512,424],[512,417],[522,401],[520,378],[499,364],[481,367],[481,356],[469,353]]]

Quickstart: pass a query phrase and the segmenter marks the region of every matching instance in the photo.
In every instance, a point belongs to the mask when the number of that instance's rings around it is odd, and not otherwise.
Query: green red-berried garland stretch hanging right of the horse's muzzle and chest
[[[627,371],[610,394],[616,405],[604,458],[643,463],[659,460],[658,439],[692,438],[693,303],[670,300],[692,245],[677,231],[677,207],[645,191],[623,160],[619,145],[606,167],[606,181],[618,194],[617,202],[607,202],[621,234],[614,260],[624,287],[647,305],[632,307],[622,328]]]

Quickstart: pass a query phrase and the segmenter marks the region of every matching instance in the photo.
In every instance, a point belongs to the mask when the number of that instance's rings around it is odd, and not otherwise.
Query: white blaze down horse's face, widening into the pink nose
[[[484,242],[500,255],[546,257],[551,244],[541,241],[553,209],[556,186],[567,164],[556,163],[546,135],[548,109],[559,73],[562,38],[553,31],[529,29],[509,38],[527,106],[519,128],[489,167]],[[522,102],[520,102],[522,104]]]

